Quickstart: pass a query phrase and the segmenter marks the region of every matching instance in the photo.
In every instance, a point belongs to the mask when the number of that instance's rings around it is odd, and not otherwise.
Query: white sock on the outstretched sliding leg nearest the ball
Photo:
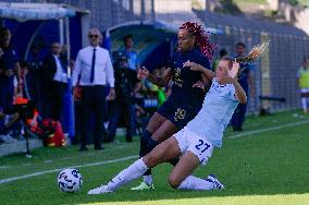
[[[136,160],[128,168],[122,170],[118,176],[115,176],[109,183],[108,186],[111,191],[115,191],[120,186],[140,178],[148,167],[143,161],[143,158]]]

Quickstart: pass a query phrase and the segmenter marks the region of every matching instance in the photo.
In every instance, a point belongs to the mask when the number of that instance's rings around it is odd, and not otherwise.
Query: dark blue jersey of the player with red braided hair
[[[209,59],[205,57],[199,49],[193,49],[187,52],[176,52],[172,57],[171,62],[173,84],[170,98],[187,102],[200,100],[201,104],[205,96],[203,91],[193,87],[196,82],[201,81],[201,72],[191,71],[188,67],[184,68],[183,64],[188,60],[211,70]]]

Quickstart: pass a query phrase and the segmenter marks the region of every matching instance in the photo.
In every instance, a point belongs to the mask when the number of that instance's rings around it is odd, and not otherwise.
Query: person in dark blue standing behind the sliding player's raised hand
[[[236,44],[235,49],[236,49],[235,58],[245,56],[246,45],[244,43]],[[240,63],[240,69],[238,72],[238,83],[242,85],[247,96],[249,96],[248,93],[250,93],[250,97],[254,97],[255,95],[252,70],[254,70],[252,64],[246,62],[246,63]],[[234,131],[243,131],[243,124],[245,122],[246,111],[247,111],[247,104],[239,104],[236,110],[234,111],[234,114],[231,120],[231,125],[233,126]]]

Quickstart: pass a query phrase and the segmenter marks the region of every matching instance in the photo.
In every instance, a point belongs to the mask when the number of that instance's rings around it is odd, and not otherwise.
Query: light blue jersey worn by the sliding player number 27
[[[213,146],[221,147],[223,132],[237,106],[238,100],[235,97],[234,85],[221,85],[214,77],[205,96],[201,110],[186,128],[211,142]]]

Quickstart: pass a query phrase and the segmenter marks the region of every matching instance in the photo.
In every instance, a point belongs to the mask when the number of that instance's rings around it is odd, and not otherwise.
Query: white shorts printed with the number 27
[[[182,129],[174,136],[183,155],[189,150],[198,157],[200,164],[207,164],[213,152],[213,145],[208,140],[200,137],[187,128]]]

